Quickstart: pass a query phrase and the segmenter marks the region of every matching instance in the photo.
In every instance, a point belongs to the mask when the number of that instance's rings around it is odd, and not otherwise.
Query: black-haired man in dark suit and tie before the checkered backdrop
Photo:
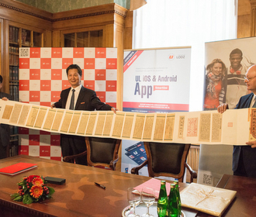
[[[71,88],[61,91],[61,98],[58,102],[51,105],[51,108],[66,108],[74,110],[112,110],[116,108],[101,102],[95,91],[85,88],[81,85],[81,68],[77,64],[71,64],[67,67],[67,79]],[[61,152],[62,156],[70,156],[82,153],[86,150],[85,137],[61,134]],[[87,165],[86,157],[75,159],[76,164]]]

